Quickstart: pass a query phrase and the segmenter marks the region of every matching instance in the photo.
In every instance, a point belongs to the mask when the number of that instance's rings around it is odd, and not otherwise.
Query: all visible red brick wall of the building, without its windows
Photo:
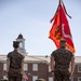
[[[26,73],[27,72],[31,73],[30,76],[28,76],[29,81],[32,81],[32,76],[38,76],[38,78],[43,78],[46,81],[49,81],[48,80],[49,77],[52,77],[52,73],[49,72],[49,65],[45,63],[38,64],[38,71],[32,71],[32,63],[29,63],[28,71],[26,71]],[[5,71],[3,70],[3,64],[0,63],[0,79],[2,79],[3,76],[5,76]],[[78,77],[81,77],[81,72],[78,72],[78,65],[77,65],[73,73],[73,81],[78,81]]]

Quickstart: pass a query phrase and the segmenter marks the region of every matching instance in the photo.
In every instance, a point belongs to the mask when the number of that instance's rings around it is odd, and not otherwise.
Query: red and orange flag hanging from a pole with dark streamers
[[[64,5],[59,3],[55,16],[51,19],[54,21],[50,30],[50,39],[54,41],[57,48],[59,48],[59,40],[65,39],[67,41],[67,48],[75,53],[75,46],[72,42],[72,36],[70,32],[69,24],[66,16]]]

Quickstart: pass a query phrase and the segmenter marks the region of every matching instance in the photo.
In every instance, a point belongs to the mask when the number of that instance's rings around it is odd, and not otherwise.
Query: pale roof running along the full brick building
[[[81,56],[76,56],[76,64],[81,64]],[[6,62],[6,55],[0,55],[0,63]],[[25,56],[25,63],[46,63],[50,64],[50,56]]]

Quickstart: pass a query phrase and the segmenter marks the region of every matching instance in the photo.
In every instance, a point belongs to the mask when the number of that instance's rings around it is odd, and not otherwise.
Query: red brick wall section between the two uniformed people
[[[38,71],[32,71],[32,64],[28,64],[28,71],[31,73],[29,77],[29,81],[32,81],[32,76],[38,76],[38,78],[43,78],[48,81],[48,65],[46,64],[38,64]]]

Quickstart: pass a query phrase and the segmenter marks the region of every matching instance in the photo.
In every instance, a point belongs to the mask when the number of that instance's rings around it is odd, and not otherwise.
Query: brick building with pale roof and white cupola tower
[[[19,41],[19,51],[25,55],[24,70],[28,76],[28,81],[36,81],[37,79],[45,79],[53,81],[50,67],[50,56],[29,56],[25,50],[25,39],[22,35],[16,41]],[[6,55],[0,55],[0,79],[6,79]],[[70,81],[81,81],[81,56],[76,56],[76,69]]]

